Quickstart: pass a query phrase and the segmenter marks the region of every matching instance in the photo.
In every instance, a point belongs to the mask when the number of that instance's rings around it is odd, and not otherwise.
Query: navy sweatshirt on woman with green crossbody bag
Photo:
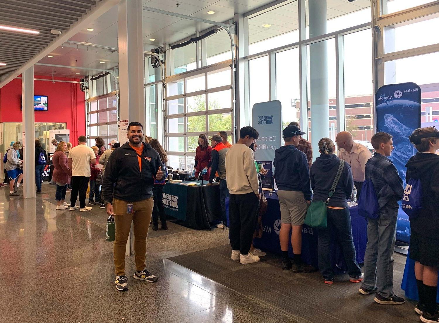
[[[313,201],[326,201],[332,183],[337,175],[340,158],[334,154],[322,154],[311,166],[311,188],[314,191]],[[348,207],[354,188],[351,165],[345,163],[342,176],[335,187],[334,195],[329,200],[328,207]]]

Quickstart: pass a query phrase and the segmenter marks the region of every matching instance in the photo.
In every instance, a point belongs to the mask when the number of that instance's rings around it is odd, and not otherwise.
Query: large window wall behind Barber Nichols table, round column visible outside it
[[[282,124],[299,121],[313,146],[344,130],[367,143],[374,133],[370,1],[284,1],[244,17],[250,114],[255,103],[277,99]]]

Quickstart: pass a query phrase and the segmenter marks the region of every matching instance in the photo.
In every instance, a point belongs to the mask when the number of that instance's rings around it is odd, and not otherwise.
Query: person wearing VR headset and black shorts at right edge
[[[418,151],[406,165],[403,197],[403,210],[410,218],[410,258],[415,261],[419,295],[414,310],[422,322],[438,323],[439,131],[435,127],[418,128],[409,139]]]

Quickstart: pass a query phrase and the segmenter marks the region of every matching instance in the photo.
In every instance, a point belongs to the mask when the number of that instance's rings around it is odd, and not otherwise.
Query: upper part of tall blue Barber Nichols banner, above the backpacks
[[[416,152],[409,136],[421,127],[421,88],[415,83],[389,84],[375,95],[377,129],[393,136],[389,158],[405,183],[406,163]]]

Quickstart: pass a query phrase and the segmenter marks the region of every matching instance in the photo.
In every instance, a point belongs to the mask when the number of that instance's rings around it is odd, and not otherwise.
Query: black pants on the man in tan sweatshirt
[[[258,212],[259,200],[255,193],[230,193],[229,239],[232,250],[240,250],[241,254],[248,254],[258,221]]]

